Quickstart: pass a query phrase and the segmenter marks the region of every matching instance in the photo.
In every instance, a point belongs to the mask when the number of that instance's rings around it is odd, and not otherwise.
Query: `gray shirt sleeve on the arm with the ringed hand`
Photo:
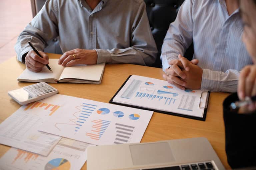
[[[130,47],[113,49],[95,49],[97,63],[132,63],[152,65],[157,56],[157,48],[150,30],[145,3],[141,3],[130,32]],[[129,33],[128,33],[129,34]]]

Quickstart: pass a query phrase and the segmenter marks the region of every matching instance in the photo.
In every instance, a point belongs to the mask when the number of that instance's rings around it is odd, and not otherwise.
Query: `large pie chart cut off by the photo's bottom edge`
[[[56,158],[50,160],[44,167],[45,170],[70,170],[71,164],[67,159]]]

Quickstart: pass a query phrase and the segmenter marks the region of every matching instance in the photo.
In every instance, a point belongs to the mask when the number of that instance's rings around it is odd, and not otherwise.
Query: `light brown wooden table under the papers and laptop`
[[[49,56],[50,58],[60,57],[58,54],[49,54]],[[3,122],[20,107],[8,96],[7,92],[33,84],[17,81],[17,77],[24,69],[25,65],[18,62],[16,57],[0,64],[0,122]],[[108,103],[129,75],[136,74],[162,79],[163,73],[160,68],[133,64],[106,64],[102,83],[99,85],[75,83],[51,83],[51,85],[59,90],[59,94]],[[99,89],[101,90],[99,91]],[[227,96],[228,93],[211,93],[205,122],[155,112],[141,142],[206,137],[225,168],[230,169],[225,153],[225,131],[222,113],[222,102]],[[0,145],[0,156],[9,148]],[[82,169],[86,169],[86,164]]]

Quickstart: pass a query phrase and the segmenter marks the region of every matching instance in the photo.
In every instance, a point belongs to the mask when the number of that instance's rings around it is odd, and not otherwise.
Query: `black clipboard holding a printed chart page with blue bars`
[[[209,94],[200,89],[181,90],[164,80],[130,75],[109,102],[205,121]]]

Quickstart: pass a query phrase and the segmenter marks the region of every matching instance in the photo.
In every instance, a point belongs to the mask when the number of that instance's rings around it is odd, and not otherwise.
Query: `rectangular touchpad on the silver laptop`
[[[168,142],[130,145],[133,165],[168,163],[175,161]]]

